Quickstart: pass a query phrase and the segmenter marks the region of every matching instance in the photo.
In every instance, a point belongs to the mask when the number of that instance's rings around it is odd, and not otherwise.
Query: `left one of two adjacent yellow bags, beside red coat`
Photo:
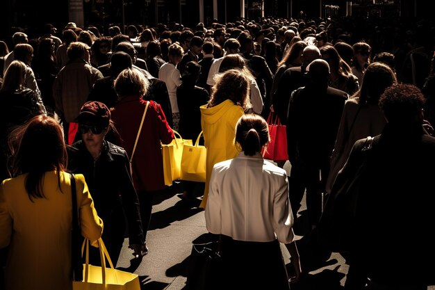
[[[183,139],[177,131],[173,131],[175,135],[174,140],[169,144],[162,144],[165,185],[172,185],[174,180],[180,179],[183,145],[192,145],[192,140]],[[179,136],[179,138],[177,138],[177,136]]]

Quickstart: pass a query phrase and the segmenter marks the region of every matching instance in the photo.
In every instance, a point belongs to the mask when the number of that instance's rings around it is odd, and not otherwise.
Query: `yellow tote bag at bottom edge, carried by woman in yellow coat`
[[[139,277],[136,274],[120,271],[113,267],[103,240],[98,240],[101,266],[89,264],[90,241],[85,239],[81,248],[86,248],[86,264],[83,264],[83,281],[73,281],[73,290],[140,290]],[[106,268],[106,259],[110,268]]]

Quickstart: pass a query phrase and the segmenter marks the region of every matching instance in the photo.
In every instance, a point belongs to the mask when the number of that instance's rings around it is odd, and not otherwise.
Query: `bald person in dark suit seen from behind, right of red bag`
[[[328,86],[329,65],[326,61],[317,59],[307,70],[308,83],[294,90],[290,97],[286,129],[288,160],[292,170],[293,167],[299,168],[298,182],[304,181],[306,186],[306,206],[313,228],[320,218],[321,192],[327,180],[329,157],[348,95]],[[303,191],[301,193],[303,195]]]

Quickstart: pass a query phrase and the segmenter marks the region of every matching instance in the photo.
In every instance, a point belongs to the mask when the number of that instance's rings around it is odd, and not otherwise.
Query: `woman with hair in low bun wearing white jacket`
[[[299,280],[286,170],[260,153],[269,142],[267,122],[260,115],[242,115],[235,138],[242,152],[216,163],[211,172],[205,218],[208,232],[220,234],[223,289],[288,290]],[[279,243],[291,256],[290,279]]]

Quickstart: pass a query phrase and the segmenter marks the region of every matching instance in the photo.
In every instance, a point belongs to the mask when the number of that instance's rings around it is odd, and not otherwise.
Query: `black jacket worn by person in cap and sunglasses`
[[[83,141],[68,147],[68,169],[85,176],[98,216],[104,222],[105,236],[124,238],[125,219],[128,222],[129,243],[143,244],[139,201],[131,182],[129,158],[122,147],[104,141],[104,150],[94,161]],[[109,233],[110,232],[110,233]]]

